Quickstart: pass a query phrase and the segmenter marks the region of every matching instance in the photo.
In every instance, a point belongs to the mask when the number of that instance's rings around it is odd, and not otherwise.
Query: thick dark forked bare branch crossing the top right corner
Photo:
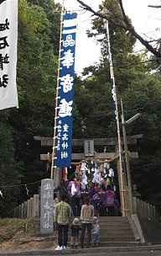
[[[94,15],[96,15],[97,17],[100,17],[101,19],[106,19],[106,20],[112,22],[112,24],[115,24],[118,27],[125,29],[126,31],[130,31],[131,34],[134,35],[142,43],[142,45],[144,45],[147,48],[148,51],[153,53],[153,55],[156,56],[158,59],[161,57],[161,53],[158,50],[156,50],[155,48],[153,48],[153,46],[150,45],[147,40],[144,40],[141,35],[138,35],[138,33],[132,27],[132,24],[129,23],[129,21],[127,19],[127,15],[125,14],[125,11],[124,11],[124,8],[122,5],[122,0],[118,0],[118,2],[120,4],[121,11],[122,11],[122,16],[123,16],[123,19],[120,19],[120,22],[115,21],[108,14],[94,11],[90,6],[88,6],[86,3],[82,2],[81,0],[77,0],[77,2],[81,3],[81,8],[84,8],[86,11],[93,13]],[[117,20],[118,20],[118,17],[117,17]],[[124,23],[122,23],[122,20]]]

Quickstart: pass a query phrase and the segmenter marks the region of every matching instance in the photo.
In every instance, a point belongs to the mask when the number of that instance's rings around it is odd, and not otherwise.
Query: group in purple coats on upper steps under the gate
[[[81,184],[76,180],[62,179],[60,185],[54,192],[60,191],[61,195],[66,195],[66,202],[71,206],[72,216],[81,216],[81,207],[84,200],[89,196],[91,205],[94,207],[94,216],[118,216],[120,205],[111,184],[95,184],[89,182],[82,189]]]

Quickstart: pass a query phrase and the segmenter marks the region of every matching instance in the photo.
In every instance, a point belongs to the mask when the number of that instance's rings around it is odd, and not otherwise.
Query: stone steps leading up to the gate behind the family
[[[132,247],[138,245],[127,217],[100,216],[98,221],[100,225],[100,247]],[[86,241],[87,236],[85,235],[85,246]]]

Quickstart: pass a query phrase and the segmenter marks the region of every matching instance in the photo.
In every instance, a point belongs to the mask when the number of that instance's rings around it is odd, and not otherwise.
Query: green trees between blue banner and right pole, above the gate
[[[106,111],[112,104],[110,84],[105,73],[92,75],[79,88],[75,84],[75,104],[81,118],[81,134],[84,137],[102,137],[112,119],[112,112]],[[107,117],[109,120],[106,122]],[[83,127],[82,127],[83,126]]]

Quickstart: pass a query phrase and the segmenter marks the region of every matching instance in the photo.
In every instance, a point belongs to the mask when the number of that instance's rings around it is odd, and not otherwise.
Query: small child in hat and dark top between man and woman
[[[70,229],[71,229],[70,246],[72,249],[74,249],[78,247],[79,231],[81,230],[81,225],[78,218],[74,219]]]

